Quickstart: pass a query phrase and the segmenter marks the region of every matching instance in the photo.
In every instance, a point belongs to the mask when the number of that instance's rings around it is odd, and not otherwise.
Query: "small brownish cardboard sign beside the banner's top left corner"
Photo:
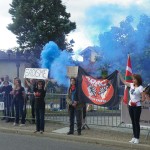
[[[77,66],[69,66],[67,67],[67,75],[68,77],[77,77],[78,67]]]

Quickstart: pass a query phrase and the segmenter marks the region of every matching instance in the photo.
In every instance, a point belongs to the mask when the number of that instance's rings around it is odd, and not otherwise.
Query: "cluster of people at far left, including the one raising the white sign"
[[[32,123],[36,123],[34,132],[44,132],[45,95],[48,80],[19,78],[10,82],[9,76],[0,78],[0,96],[4,102],[3,118],[6,122],[14,122],[14,126],[25,126],[26,102],[30,101]]]

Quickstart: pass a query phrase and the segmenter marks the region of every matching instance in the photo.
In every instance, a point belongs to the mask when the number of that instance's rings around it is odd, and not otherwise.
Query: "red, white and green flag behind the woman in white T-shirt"
[[[130,55],[128,55],[128,60],[127,60],[125,81],[132,83],[132,66],[131,66]],[[125,104],[128,104],[128,98],[129,98],[129,89],[127,86],[125,86],[124,97],[123,97],[123,102]]]

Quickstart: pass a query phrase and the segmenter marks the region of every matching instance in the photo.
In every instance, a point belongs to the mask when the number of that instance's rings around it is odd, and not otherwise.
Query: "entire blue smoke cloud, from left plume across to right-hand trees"
[[[123,70],[130,53],[134,73],[142,74],[148,81],[150,71],[150,18],[149,10],[139,5],[128,7],[114,4],[92,6],[86,12],[84,20],[86,32],[97,47],[90,49],[98,53],[95,63],[90,62],[90,53],[85,52],[84,62],[74,62],[70,53],[61,52],[55,43],[49,43],[41,54],[42,67],[50,69],[51,77],[58,84],[68,86],[67,66],[80,65],[92,75],[100,76],[101,69],[108,68],[109,73]],[[88,48],[87,48],[87,51]]]

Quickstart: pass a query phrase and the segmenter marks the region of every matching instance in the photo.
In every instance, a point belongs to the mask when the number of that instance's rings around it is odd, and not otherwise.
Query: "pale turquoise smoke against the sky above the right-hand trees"
[[[136,26],[140,15],[145,13],[149,15],[149,12],[145,12],[144,8],[142,9],[141,6],[136,4],[128,7],[116,4],[101,4],[92,6],[86,11],[84,25],[86,31],[90,33],[91,41],[95,44],[95,41],[98,41],[98,34],[103,34],[109,31],[111,27],[118,26],[127,16],[134,18],[134,26]]]

